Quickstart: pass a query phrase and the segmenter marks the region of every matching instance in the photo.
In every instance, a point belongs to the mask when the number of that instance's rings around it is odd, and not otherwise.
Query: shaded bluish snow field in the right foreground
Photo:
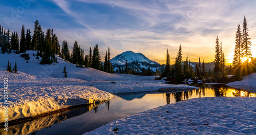
[[[196,98],[119,119],[84,134],[254,134],[256,98]],[[117,131],[113,131],[118,128]]]

